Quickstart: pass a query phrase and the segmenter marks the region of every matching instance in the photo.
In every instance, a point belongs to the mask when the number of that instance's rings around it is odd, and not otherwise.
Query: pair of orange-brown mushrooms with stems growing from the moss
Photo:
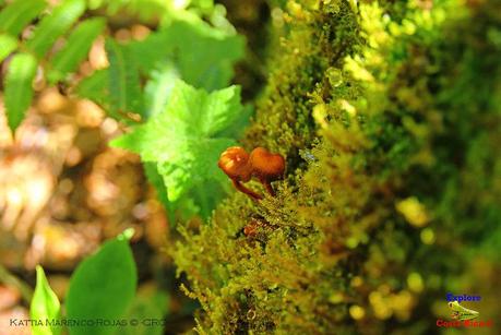
[[[275,195],[271,182],[282,179],[285,171],[284,157],[263,147],[254,148],[249,155],[240,146],[230,146],[220,154],[217,165],[231,179],[237,190],[253,200],[261,200],[263,196],[246,188],[242,182],[255,177],[271,195]]]

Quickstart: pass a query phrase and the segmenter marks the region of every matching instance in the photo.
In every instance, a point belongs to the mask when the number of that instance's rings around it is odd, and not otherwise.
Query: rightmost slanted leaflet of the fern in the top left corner
[[[97,36],[103,32],[106,21],[100,17],[86,20],[68,37],[65,46],[51,60],[52,70],[48,77],[55,83],[73,72],[88,55],[88,50]]]

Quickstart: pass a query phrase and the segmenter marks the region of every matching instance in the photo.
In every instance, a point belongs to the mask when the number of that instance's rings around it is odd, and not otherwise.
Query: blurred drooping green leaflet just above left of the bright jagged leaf
[[[126,112],[143,115],[141,83],[132,55],[110,38],[106,40],[106,52],[111,112],[115,117]]]

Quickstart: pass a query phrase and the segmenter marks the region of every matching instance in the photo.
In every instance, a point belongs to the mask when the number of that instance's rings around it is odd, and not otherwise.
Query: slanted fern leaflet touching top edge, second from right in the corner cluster
[[[68,32],[84,11],[85,0],[64,0],[37,25],[33,37],[26,41],[27,48],[38,58],[43,58],[58,37]]]

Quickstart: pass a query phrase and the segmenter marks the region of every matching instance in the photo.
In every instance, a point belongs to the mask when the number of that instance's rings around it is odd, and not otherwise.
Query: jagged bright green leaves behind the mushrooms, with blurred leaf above
[[[176,17],[142,41],[119,45],[108,39],[109,69],[98,71],[82,81],[76,87],[79,95],[96,101],[111,117],[133,127],[138,123],[129,118],[131,112],[138,115],[140,120],[147,121],[146,124],[156,122],[148,121],[148,119],[157,115],[163,115],[163,122],[166,124],[170,122],[169,118],[172,118],[172,122],[174,119],[180,118],[171,110],[168,111],[169,108],[176,107],[170,104],[176,82],[178,86],[182,86],[180,81],[184,81],[195,88],[203,88],[207,92],[227,87],[232,76],[232,64],[243,56],[242,38],[225,29],[212,27],[198,16],[177,15]],[[199,52],[201,49],[204,50],[203,53]],[[141,85],[140,77],[147,79],[145,85]],[[223,143],[224,145],[234,143],[232,139],[238,136],[239,130],[246,124],[250,115],[249,108],[240,106],[240,93],[237,87],[222,91],[213,95],[211,100],[205,100],[206,93],[199,91],[195,94],[189,86],[184,87],[186,94],[189,95],[184,97],[186,99],[198,99],[201,104],[214,103],[213,115],[206,115],[193,104],[188,105],[182,111],[184,113],[182,118],[186,127],[194,129],[193,133],[186,133],[186,130],[184,133],[176,132],[171,128],[171,131],[166,134],[169,139],[167,140],[163,139],[165,130],[157,128],[157,139],[146,135],[150,140],[141,140],[144,148],[147,147],[148,141],[167,143],[175,140],[176,142],[171,144],[177,143],[178,146],[170,146],[169,152],[175,153],[176,157],[184,161],[177,159],[175,160],[176,166],[166,166],[163,163],[165,159],[162,158],[166,153],[156,156],[146,155],[146,157],[144,152],[133,147],[139,144],[122,144],[123,147],[133,152],[141,152],[146,176],[157,189],[159,199],[168,210],[172,223],[176,220],[177,210],[182,217],[196,213],[203,217],[208,216],[217,201],[226,193],[219,182],[218,171],[212,169],[211,165],[195,165],[194,163],[206,163],[207,157],[214,157],[214,153],[217,152],[214,149],[215,146],[222,148]],[[178,93],[178,95],[182,94]],[[189,117],[196,110],[199,110],[198,115]],[[167,115],[169,117],[166,117]],[[214,127],[228,128],[228,130],[215,129],[210,130],[206,134],[202,131],[200,134],[206,136],[207,140],[212,136],[224,139],[195,145],[193,140],[199,132],[195,130],[195,124],[202,124],[204,117],[210,118],[208,122],[226,122],[226,124]],[[212,121],[213,118],[214,121]],[[230,123],[234,123],[231,129],[229,129]],[[139,128],[143,129],[143,125]],[[145,137],[144,133],[144,130],[138,130],[130,136]],[[139,137],[134,137],[133,141]],[[150,146],[153,147],[152,144]],[[210,149],[212,154],[206,157],[204,149]],[[205,167],[210,167],[208,170],[205,170]],[[168,169],[172,168],[172,171],[177,174],[170,174]],[[193,179],[191,180],[190,177]],[[219,181],[214,182],[214,180]]]

